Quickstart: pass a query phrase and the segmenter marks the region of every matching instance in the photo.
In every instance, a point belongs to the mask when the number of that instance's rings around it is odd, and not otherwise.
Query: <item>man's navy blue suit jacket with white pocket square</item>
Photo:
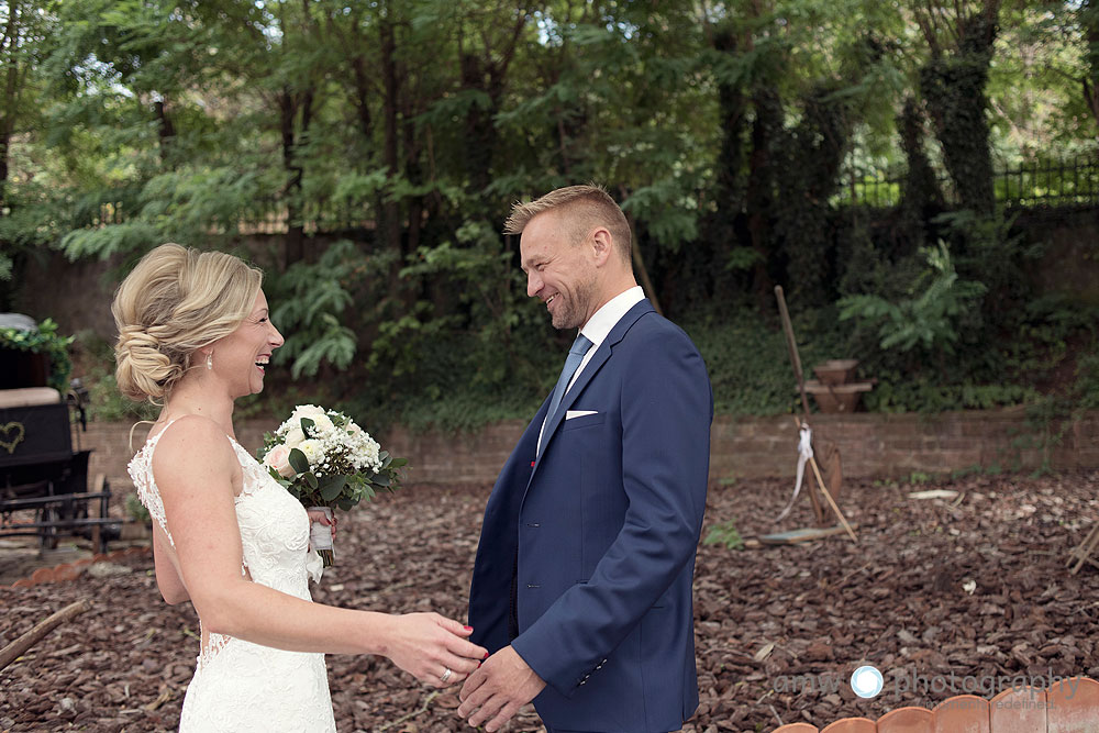
[[[565,395],[535,464],[547,409],[548,399],[485,509],[471,638],[491,652],[510,643],[546,681],[534,704],[552,728],[678,730],[698,707],[691,579],[713,418],[706,365],[643,300]],[[568,410],[593,414],[565,420]]]

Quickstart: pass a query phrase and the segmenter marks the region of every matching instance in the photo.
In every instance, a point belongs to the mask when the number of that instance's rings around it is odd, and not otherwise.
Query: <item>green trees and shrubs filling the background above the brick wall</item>
[[[1099,402],[1099,304],[1037,290],[995,176],[1095,160],[1090,1],[9,0],[0,33],[0,309],[58,253],[253,259],[287,342],[245,414],[529,415],[569,336],[500,226],[588,180],[721,412],[797,409],[775,285],[869,409]],[[119,418],[109,337],[77,356]]]

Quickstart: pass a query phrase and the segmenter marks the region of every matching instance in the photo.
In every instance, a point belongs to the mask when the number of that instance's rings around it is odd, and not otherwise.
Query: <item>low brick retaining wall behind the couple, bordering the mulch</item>
[[[243,422],[241,443],[248,449],[260,444],[271,425]],[[503,466],[525,423],[496,423],[473,435],[411,434],[395,430],[382,436],[393,455],[408,456],[418,484],[491,484]],[[975,466],[1033,469],[1048,459],[1055,469],[1099,468],[1099,412],[1063,426],[1059,444],[1035,435],[1021,410],[953,412],[940,415],[850,414],[814,415],[819,437],[836,444],[848,477],[902,477],[914,471],[945,474]],[[1062,430],[1057,426],[1058,431]],[[134,430],[141,446],[147,425]],[[112,490],[132,490],[125,465],[129,424],[90,424],[80,435],[84,447],[95,448],[89,473],[104,474]],[[730,480],[793,476],[798,432],[793,418],[719,417],[710,441],[710,478]]]

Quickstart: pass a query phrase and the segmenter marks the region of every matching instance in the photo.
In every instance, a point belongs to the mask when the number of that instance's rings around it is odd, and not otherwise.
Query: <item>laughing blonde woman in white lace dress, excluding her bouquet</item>
[[[313,603],[310,518],[236,442],[233,401],[259,392],[282,336],[262,274],[231,255],[165,244],[112,304],[119,389],[163,400],[130,464],[156,520],[156,581],[190,600],[202,635],[179,730],[335,731],[324,654],[378,654],[435,686],[488,654],[436,613],[390,615]],[[324,520],[320,520],[324,521]]]

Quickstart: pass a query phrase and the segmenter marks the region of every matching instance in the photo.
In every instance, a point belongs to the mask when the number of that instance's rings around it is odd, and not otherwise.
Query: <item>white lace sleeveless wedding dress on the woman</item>
[[[175,547],[153,480],[153,451],[170,426],[169,422],[149,437],[129,471],[141,502]],[[229,440],[244,474],[235,501],[244,549],[241,573],[253,582],[312,600],[308,579],[319,573],[321,560],[309,549],[306,510],[247,451]],[[285,652],[223,634],[203,633],[202,638],[198,667],[184,698],[180,733],[335,732],[323,654]]]

